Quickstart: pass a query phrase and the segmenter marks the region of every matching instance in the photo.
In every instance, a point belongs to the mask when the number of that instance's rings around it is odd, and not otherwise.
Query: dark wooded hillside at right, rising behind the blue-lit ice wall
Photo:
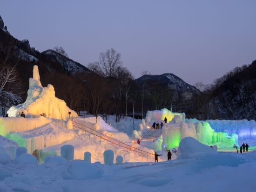
[[[256,60],[235,67],[211,90],[210,119],[256,119]]]

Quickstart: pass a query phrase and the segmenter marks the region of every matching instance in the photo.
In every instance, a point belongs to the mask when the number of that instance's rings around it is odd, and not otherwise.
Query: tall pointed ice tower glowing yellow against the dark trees
[[[29,78],[27,99],[18,106],[12,106],[8,111],[9,117],[19,117],[24,112],[26,118],[39,117],[40,115],[67,120],[77,117],[77,113],[67,107],[65,101],[55,97],[54,86],[43,87],[40,82],[38,66],[34,66],[33,78]]]

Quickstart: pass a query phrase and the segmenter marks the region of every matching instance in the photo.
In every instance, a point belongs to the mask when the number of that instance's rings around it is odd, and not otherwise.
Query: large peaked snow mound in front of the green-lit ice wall
[[[192,137],[185,137],[180,142],[177,159],[188,159],[191,156],[200,153],[216,153],[216,150],[203,145]]]

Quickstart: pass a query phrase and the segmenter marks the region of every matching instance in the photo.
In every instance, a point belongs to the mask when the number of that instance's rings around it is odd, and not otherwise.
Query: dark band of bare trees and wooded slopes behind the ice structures
[[[82,70],[68,71],[70,62]],[[0,105],[2,114],[24,102],[33,66],[39,66],[43,86],[52,84],[56,97],[76,112],[112,114],[116,121],[133,112],[145,118],[148,110],[168,108],[196,119],[256,119],[256,61],[236,67],[211,85],[197,83],[200,90],[184,99],[182,92],[162,81],[145,78],[136,83],[121,61],[108,49],[87,67],[70,60],[62,47],[39,53],[28,40],[17,40],[0,30]],[[7,74],[11,73],[9,76]],[[9,79],[8,79],[9,78]]]

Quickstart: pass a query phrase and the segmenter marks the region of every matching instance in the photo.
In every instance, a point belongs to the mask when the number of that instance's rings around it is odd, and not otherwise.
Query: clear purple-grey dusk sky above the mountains
[[[256,60],[256,0],[3,0],[17,39],[40,52],[62,46],[87,66],[114,48],[135,78],[174,73],[212,83]]]

